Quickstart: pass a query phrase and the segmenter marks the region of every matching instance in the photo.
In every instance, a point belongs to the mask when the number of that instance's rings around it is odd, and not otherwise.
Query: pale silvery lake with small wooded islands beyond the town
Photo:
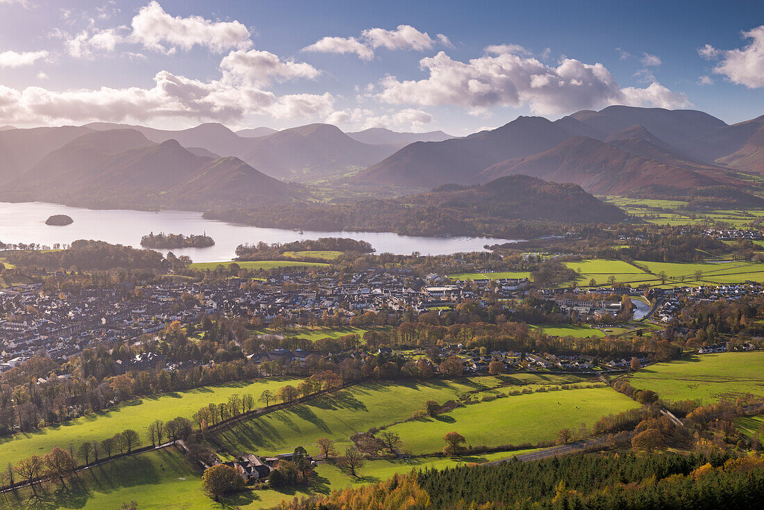
[[[45,220],[53,214],[71,216],[74,223],[48,226]],[[149,232],[202,234],[215,239],[209,248],[172,250],[175,255],[188,255],[195,262],[229,261],[236,256],[236,246],[257,242],[292,242],[319,237],[346,237],[370,242],[377,253],[395,255],[449,255],[458,252],[483,252],[484,245],[516,242],[513,239],[483,237],[416,237],[392,232],[297,232],[286,229],[261,229],[202,218],[202,213],[166,210],[157,213],[134,210],[90,210],[55,203],[0,202],[0,241],[37,243],[53,246],[77,239],[95,239],[113,244],[141,245],[141,237]]]

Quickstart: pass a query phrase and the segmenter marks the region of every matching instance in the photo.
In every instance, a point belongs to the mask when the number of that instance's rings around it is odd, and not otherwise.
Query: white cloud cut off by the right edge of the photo
[[[706,44],[698,54],[707,60],[719,60],[714,73],[726,76],[732,83],[749,89],[764,86],[764,25],[741,32],[749,40],[742,48],[718,50]]]

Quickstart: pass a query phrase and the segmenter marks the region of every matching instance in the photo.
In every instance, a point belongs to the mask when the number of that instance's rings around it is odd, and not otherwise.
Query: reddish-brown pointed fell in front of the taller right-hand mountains
[[[721,183],[684,167],[643,158],[594,138],[576,136],[549,151],[486,168],[484,180],[524,174],[579,184],[591,193],[620,194],[655,184],[707,187]]]

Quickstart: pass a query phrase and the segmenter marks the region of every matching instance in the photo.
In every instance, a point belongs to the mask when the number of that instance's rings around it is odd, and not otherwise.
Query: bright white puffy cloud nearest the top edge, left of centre
[[[131,41],[163,52],[190,50],[198,45],[222,53],[252,44],[248,28],[238,21],[210,21],[201,16],[173,18],[154,0],[138,11],[131,25]]]

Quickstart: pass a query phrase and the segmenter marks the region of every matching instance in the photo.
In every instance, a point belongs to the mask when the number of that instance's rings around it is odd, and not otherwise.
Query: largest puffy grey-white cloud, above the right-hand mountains
[[[691,104],[684,94],[673,93],[659,83],[646,89],[621,89],[601,63],[565,58],[553,67],[518,53],[507,50],[465,63],[441,51],[419,61],[428,78],[398,80],[388,76],[380,83],[379,98],[391,104],[456,105],[474,114],[491,106],[524,104],[545,115],[617,103],[663,107]]]

